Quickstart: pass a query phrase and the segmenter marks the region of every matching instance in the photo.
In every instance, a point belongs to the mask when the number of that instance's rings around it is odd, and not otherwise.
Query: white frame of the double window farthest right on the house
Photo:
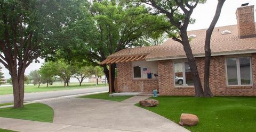
[[[241,73],[240,73],[240,63],[239,63],[239,58],[244,58],[244,57],[249,57],[250,58],[250,79],[251,79],[251,84],[241,84]],[[226,63],[226,82],[227,86],[252,86],[253,85],[253,80],[252,80],[252,58],[250,56],[244,56],[244,57],[227,57],[225,58],[225,63]],[[237,72],[237,85],[229,85],[228,84],[228,67],[227,67],[227,59],[230,58],[235,58],[236,59],[236,72]]]

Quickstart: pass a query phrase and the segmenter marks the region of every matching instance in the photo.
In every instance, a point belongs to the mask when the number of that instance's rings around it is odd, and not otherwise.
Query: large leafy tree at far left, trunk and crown
[[[74,1],[0,1],[0,62],[12,77],[14,108],[23,107],[24,73],[38,57],[53,54]],[[36,60],[37,61],[37,60]]]

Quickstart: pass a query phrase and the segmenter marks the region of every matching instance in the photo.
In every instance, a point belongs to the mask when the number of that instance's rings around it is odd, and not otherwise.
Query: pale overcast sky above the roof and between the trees
[[[236,8],[240,7],[243,3],[249,3],[249,5],[256,5],[255,0],[226,0],[225,4],[222,7],[221,14],[219,21],[217,22],[215,27],[221,27],[225,25],[234,25],[237,24],[236,21]],[[194,24],[189,25],[188,30],[197,30],[197,29],[206,29],[209,27],[215,9],[217,7],[218,1],[217,0],[207,0],[205,4],[198,4],[197,7],[194,9],[193,14],[191,17],[196,20]],[[254,7],[254,19],[256,20],[256,13]],[[30,71],[35,69],[39,69],[44,63],[44,60],[39,59],[40,63],[32,63],[30,64],[25,74],[28,75]],[[5,78],[10,78],[9,71],[4,68],[2,64],[0,64],[3,69]]]

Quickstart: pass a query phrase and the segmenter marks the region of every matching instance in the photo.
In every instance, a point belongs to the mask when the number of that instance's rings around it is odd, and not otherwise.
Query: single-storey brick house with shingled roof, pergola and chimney
[[[237,25],[212,33],[210,87],[214,95],[256,95],[256,32],[254,5],[236,11]],[[188,31],[203,81],[206,29]],[[123,49],[101,64],[117,64],[118,92],[194,95],[194,84],[183,46],[172,39],[162,45]],[[203,82],[202,82],[203,84]]]

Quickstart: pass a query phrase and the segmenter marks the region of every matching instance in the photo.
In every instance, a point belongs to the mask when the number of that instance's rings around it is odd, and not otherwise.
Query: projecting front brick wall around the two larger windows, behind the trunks
[[[227,86],[224,56],[212,57],[210,69],[210,88],[215,96],[255,96],[256,95],[256,54],[252,55],[253,86]],[[204,58],[197,58],[197,68],[204,79]],[[194,87],[175,87],[172,60],[159,61],[159,93],[161,95],[194,95]]]

